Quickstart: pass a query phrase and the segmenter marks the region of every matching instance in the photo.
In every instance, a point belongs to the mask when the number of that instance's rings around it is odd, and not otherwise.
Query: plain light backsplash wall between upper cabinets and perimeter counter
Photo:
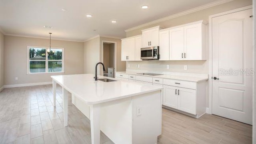
[[[140,68],[138,68],[138,64]],[[167,69],[167,65],[170,66]],[[184,70],[184,66],[187,70]],[[130,66],[130,67],[129,67]],[[147,70],[154,72],[188,72],[198,74],[209,73],[208,60],[194,60],[194,61],[160,61],[160,60],[144,60],[144,61],[127,61],[126,71],[128,70]]]

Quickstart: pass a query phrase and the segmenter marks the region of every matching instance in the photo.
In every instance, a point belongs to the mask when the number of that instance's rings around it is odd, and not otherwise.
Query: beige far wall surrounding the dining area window
[[[4,85],[51,82],[51,75],[63,74],[27,74],[27,46],[48,47],[49,40],[4,36]],[[64,48],[64,74],[83,73],[82,42],[52,40],[51,46]]]

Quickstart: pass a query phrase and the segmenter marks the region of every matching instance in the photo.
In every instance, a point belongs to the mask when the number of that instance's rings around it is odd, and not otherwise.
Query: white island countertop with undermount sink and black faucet
[[[94,76],[94,74],[74,74],[51,76],[51,78],[70,93],[80,97],[86,104],[99,104],[163,89],[159,86],[122,80],[114,82],[95,81]],[[109,77],[98,76],[99,78]]]

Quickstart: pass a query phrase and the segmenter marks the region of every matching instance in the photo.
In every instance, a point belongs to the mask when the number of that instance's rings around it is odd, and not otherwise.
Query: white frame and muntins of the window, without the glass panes
[[[29,58],[29,49],[30,48],[45,48],[46,49],[46,55],[45,60],[30,60]],[[60,47],[51,47],[51,49],[62,49],[62,60],[48,60],[48,52],[47,49],[49,47],[47,46],[27,46],[27,74],[56,74],[56,73],[64,73],[64,48]],[[30,72],[30,61],[45,61],[45,72]],[[48,62],[50,61],[62,61],[62,71],[61,72],[48,72]]]

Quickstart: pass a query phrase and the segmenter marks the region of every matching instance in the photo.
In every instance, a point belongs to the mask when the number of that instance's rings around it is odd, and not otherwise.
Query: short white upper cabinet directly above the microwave
[[[159,29],[160,26],[142,30],[142,48],[159,46]]]

